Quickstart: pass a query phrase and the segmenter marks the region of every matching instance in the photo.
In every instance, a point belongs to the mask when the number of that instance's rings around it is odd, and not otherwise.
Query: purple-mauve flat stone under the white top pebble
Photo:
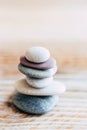
[[[43,62],[43,63],[33,63],[33,62],[28,61],[25,58],[25,56],[21,56],[20,63],[26,67],[31,67],[35,69],[41,69],[41,70],[50,69],[56,66],[56,61],[53,58],[49,58],[46,62]]]

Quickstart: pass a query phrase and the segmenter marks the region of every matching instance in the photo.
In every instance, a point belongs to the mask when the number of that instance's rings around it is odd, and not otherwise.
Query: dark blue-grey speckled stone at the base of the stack
[[[12,97],[14,105],[31,114],[44,114],[53,109],[58,102],[57,96],[30,96],[16,92]]]

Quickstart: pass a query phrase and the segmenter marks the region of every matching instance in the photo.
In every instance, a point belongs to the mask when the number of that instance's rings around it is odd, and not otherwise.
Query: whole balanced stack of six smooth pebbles
[[[53,80],[57,66],[49,51],[43,47],[28,49],[20,58],[18,69],[26,77],[15,83],[14,105],[32,114],[50,111],[58,102],[58,94],[65,91],[65,86]]]

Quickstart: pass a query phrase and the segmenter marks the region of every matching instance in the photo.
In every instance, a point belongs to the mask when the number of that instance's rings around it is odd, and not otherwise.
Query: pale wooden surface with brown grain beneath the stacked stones
[[[86,64],[62,60],[55,79],[63,82],[67,91],[51,112],[35,116],[18,110],[11,100],[15,80],[23,77],[17,70],[20,54],[0,53],[0,130],[87,130]]]

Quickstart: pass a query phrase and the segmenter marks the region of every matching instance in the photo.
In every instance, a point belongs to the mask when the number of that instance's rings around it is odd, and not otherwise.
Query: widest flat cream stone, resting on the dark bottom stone
[[[65,86],[61,82],[53,81],[48,87],[36,89],[29,86],[25,78],[16,81],[15,88],[22,94],[35,96],[58,95],[65,92]]]

